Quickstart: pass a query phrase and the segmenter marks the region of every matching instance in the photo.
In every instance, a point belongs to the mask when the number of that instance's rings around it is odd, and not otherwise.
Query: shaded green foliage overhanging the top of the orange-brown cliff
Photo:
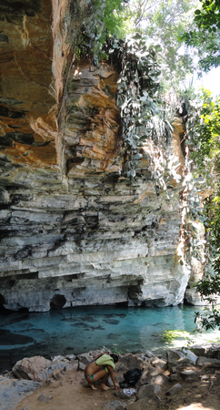
[[[107,36],[125,38],[129,19],[120,0],[92,0],[70,3],[69,39],[75,57],[87,56],[94,65],[106,57],[103,46]]]

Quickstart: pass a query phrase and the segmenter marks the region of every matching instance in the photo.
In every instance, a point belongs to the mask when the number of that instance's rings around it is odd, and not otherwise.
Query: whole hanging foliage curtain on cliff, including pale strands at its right
[[[120,108],[124,145],[119,151],[123,160],[125,178],[132,183],[141,177],[141,159],[149,160],[155,191],[166,190],[172,196],[170,180],[178,180],[175,166],[179,165],[167,150],[173,131],[174,112],[158,97],[160,67],[158,45],[148,45],[147,38],[138,33],[129,36],[125,43],[113,43],[114,55],[121,59],[118,80],[117,105]],[[148,152],[146,150],[146,141]],[[142,147],[145,146],[145,149]]]

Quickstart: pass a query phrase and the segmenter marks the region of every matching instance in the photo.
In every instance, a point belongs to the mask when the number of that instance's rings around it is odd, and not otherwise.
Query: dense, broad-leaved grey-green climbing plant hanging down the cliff
[[[126,40],[118,80],[117,106],[125,141],[124,175],[127,178],[135,178],[138,160],[143,158],[139,148],[152,133],[147,124],[158,112],[154,97],[160,87],[156,62],[156,50],[160,46],[147,48],[145,43],[145,37],[138,34]]]

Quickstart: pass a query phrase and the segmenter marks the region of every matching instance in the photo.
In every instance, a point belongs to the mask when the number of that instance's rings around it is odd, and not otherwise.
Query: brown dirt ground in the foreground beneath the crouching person
[[[145,398],[138,400],[137,406],[136,397],[117,397],[113,388],[103,391],[97,387],[97,390],[92,391],[85,382],[84,373],[77,371],[62,374],[62,379],[41,386],[35,393],[26,396],[16,410],[101,410],[106,403],[115,400],[124,402],[129,410],[220,410],[220,371],[213,368],[190,368],[197,372],[196,378],[186,381],[176,374],[176,380],[163,387],[160,403]],[[182,384],[183,388],[175,395],[166,395],[167,390],[177,383]],[[40,403],[38,397],[42,394],[51,396],[51,401]],[[145,404],[141,405],[143,400]],[[132,403],[134,405],[131,406]]]

